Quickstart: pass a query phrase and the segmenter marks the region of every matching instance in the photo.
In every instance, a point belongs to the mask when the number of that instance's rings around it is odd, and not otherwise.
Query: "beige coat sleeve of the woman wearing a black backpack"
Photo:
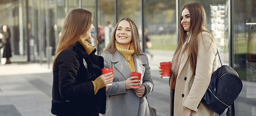
[[[216,53],[217,45],[212,35],[207,32],[199,33],[195,78],[183,106],[197,111],[211,80]]]

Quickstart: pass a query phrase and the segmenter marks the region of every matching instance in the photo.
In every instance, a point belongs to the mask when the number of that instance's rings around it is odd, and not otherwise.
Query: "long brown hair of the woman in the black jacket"
[[[76,42],[81,39],[80,36],[87,33],[92,25],[92,19],[93,15],[91,12],[84,9],[73,9],[68,13],[61,31],[59,44],[53,60],[53,67],[59,53],[65,49],[73,47]],[[93,35],[91,35],[91,37],[95,40],[97,45],[97,39]],[[87,39],[86,41],[90,43],[90,39]]]

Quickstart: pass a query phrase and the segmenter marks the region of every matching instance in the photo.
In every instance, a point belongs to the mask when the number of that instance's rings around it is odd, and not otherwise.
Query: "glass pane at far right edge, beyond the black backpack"
[[[243,90],[235,102],[237,116],[256,115],[255,4],[255,0],[234,1],[234,69],[243,82]]]

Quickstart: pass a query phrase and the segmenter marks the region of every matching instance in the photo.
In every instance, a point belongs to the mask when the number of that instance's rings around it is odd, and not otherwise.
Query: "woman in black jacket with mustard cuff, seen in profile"
[[[101,73],[104,61],[90,44],[93,18],[89,11],[74,9],[65,19],[53,62],[52,114],[98,116],[105,113],[106,84],[114,74]],[[96,44],[98,41],[95,39]]]

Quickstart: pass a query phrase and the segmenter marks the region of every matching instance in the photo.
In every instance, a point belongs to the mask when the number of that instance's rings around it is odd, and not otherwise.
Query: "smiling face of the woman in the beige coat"
[[[190,29],[190,14],[187,8],[185,8],[181,13],[181,25],[185,31]]]

